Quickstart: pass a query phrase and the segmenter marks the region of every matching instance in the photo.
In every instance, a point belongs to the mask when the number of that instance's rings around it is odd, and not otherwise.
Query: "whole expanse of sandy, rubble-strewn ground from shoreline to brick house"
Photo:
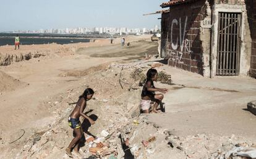
[[[105,148],[93,154],[85,142],[75,158],[216,158],[237,145],[255,147],[256,119],[246,105],[255,100],[256,81],[169,67],[150,37],[127,36],[130,46],[98,39],[0,47],[0,158],[69,158],[67,118],[88,87],[95,96],[85,112],[95,124],[80,120],[85,137],[98,137]],[[156,64],[163,75],[156,87],[169,90],[166,113],[140,115],[139,83]]]

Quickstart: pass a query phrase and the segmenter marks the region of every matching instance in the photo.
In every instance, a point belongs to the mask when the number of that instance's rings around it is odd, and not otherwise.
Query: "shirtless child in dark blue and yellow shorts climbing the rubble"
[[[80,155],[79,153],[79,144],[80,140],[83,135],[83,130],[81,128],[81,123],[79,121],[79,117],[82,116],[83,118],[87,119],[90,124],[94,124],[95,122],[87,115],[83,113],[83,110],[85,110],[85,107],[87,106],[87,101],[92,99],[92,96],[94,94],[94,91],[90,88],[85,89],[83,94],[79,97],[79,100],[77,102],[77,105],[75,105],[75,108],[73,112],[69,115],[68,123],[69,126],[74,129],[75,137],[72,139],[72,141],[69,144],[69,147],[66,149],[66,153],[69,157],[73,158],[73,155],[71,153],[72,149]]]

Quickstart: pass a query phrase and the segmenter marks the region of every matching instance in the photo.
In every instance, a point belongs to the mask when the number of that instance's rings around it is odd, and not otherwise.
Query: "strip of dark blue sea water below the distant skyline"
[[[0,46],[14,45],[15,33],[0,33]],[[70,44],[88,43],[90,39],[106,38],[100,35],[46,35],[46,34],[19,34],[21,45],[31,44]]]

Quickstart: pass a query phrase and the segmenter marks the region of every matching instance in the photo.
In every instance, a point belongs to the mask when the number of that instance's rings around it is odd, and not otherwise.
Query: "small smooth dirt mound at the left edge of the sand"
[[[12,91],[17,86],[19,86],[21,82],[12,76],[7,75],[3,71],[0,71],[0,91]]]

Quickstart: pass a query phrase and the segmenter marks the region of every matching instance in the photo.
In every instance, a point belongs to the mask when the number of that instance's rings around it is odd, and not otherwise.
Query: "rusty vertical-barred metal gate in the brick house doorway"
[[[219,12],[216,75],[239,75],[241,14]]]

